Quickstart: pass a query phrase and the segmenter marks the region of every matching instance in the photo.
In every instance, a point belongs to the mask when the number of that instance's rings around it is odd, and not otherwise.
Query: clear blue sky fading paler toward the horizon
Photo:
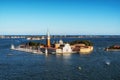
[[[120,35],[120,0],[0,0],[0,35]]]

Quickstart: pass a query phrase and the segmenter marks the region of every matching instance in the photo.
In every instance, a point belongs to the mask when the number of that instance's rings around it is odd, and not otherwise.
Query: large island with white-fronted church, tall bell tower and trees
[[[54,42],[54,43],[53,43]],[[49,32],[46,35],[45,43],[38,43],[29,41],[21,44],[17,47],[11,46],[12,50],[19,50],[31,53],[54,53],[54,54],[66,54],[66,53],[81,53],[88,54],[93,51],[93,43],[88,40],[75,40],[71,42],[59,41],[51,42],[51,36]]]

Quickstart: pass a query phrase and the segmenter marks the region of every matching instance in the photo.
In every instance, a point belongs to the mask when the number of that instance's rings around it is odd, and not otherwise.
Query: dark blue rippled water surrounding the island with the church
[[[82,40],[94,43],[91,54],[45,56],[19,52],[10,50],[10,45],[24,43],[24,39],[0,39],[0,80],[120,80],[120,52],[104,51],[107,46],[120,44],[120,38]]]

